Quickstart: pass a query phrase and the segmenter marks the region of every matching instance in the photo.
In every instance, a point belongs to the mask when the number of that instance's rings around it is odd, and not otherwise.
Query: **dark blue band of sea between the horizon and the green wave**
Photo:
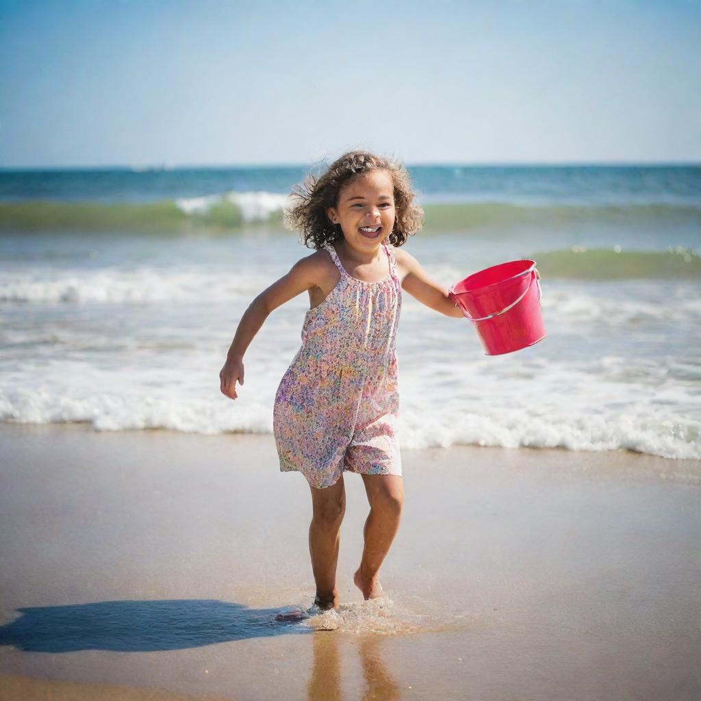
[[[307,168],[1,170],[0,200],[144,202],[228,191],[287,194]],[[318,167],[311,168],[318,172]],[[421,200],[684,203],[698,207],[700,165],[409,166]]]

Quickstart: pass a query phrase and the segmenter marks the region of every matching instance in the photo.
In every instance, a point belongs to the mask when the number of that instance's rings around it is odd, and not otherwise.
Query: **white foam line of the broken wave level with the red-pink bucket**
[[[279,270],[283,273],[282,268]],[[437,280],[455,279],[452,268],[439,273]],[[268,275],[269,278],[269,275]],[[84,268],[34,266],[30,270],[6,271],[0,278],[0,302],[68,303],[68,304],[141,304],[179,301],[235,301],[261,292],[266,273],[246,268],[229,269],[212,266],[177,266],[161,268],[139,265]],[[272,282],[272,280],[270,280]],[[689,288],[669,288],[666,304],[659,300],[628,299],[601,294],[596,288],[583,286],[547,289],[541,307],[547,322],[559,330],[582,329],[583,325],[612,328],[642,327],[650,322],[697,324],[701,322],[701,297],[690,296]],[[435,311],[404,296],[405,308],[412,316],[433,319]]]

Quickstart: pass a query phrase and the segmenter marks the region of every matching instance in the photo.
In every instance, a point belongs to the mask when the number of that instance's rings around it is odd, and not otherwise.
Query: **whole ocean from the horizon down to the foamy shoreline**
[[[701,458],[701,168],[410,168],[437,282],[536,259],[547,337],[488,357],[404,292],[405,449]],[[0,420],[271,433],[305,294],[222,367],[250,301],[311,251],[281,212],[306,168],[0,171]]]

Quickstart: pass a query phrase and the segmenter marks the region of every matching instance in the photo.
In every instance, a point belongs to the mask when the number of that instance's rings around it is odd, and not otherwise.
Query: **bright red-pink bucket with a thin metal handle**
[[[455,283],[448,294],[475,323],[485,355],[513,353],[545,338],[536,261],[486,268]]]

